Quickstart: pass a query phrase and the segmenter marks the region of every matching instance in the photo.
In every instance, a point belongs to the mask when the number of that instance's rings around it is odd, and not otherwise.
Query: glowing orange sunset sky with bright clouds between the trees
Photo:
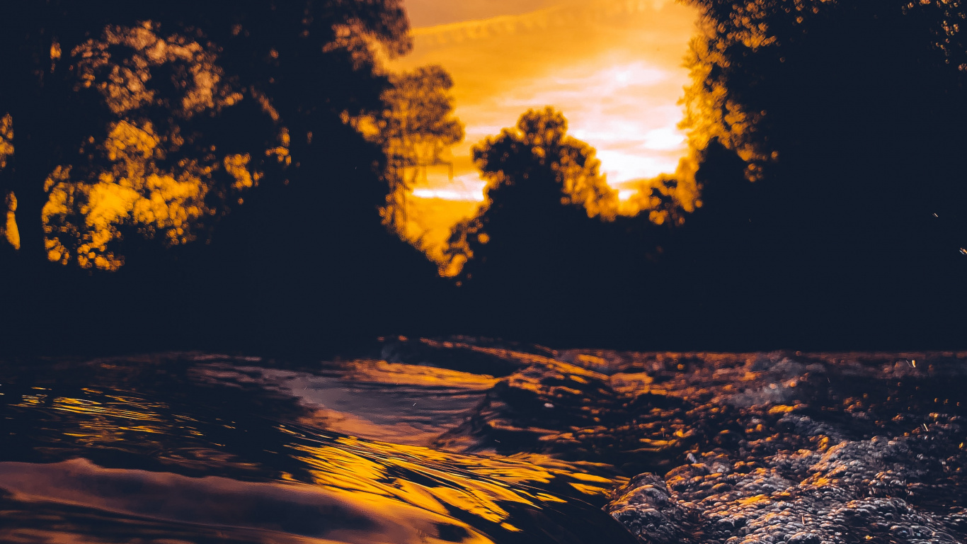
[[[466,138],[454,180],[430,171],[411,198],[410,235],[439,245],[483,200],[470,147],[530,107],[564,112],[598,150],[612,187],[675,171],[688,152],[678,100],[696,14],[673,0],[406,0],[414,49],[391,70],[440,64],[454,77]],[[622,191],[628,196],[629,190]]]

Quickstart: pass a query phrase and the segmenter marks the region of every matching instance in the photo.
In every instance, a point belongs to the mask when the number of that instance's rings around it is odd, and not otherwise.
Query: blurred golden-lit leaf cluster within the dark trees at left
[[[216,214],[212,200],[257,184],[262,172],[249,154],[220,155],[191,132],[195,116],[216,115],[243,100],[211,47],[179,35],[161,37],[156,25],[145,23],[109,27],[74,48],[72,57],[77,91],[95,90],[116,120],[102,141],[91,136],[85,142],[79,162],[57,166],[44,183],[50,260],[116,269],[124,259],[111,245],[123,237],[123,227],[169,246],[184,244]],[[270,112],[267,101],[262,106]],[[282,129],[278,146],[266,155],[287,164],[287,139]],[[217,183],[219,175],[226,184]]]

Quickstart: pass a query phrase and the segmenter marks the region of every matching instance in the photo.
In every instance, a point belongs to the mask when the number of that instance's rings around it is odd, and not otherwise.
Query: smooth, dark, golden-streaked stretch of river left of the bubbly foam
[[[5,363],[0,541],[633,542],[614,468],[441,445],[530,354],[417,348]]]

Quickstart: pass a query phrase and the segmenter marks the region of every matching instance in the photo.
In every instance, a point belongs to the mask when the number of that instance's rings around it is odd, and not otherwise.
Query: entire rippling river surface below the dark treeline
[[[947,512],[937,534],[967,523],[964,354],[646,354],[400,338],[365,355],[3,362],[0,542],[635,542],[616,518],[652,542],[732,542],[791,507],[744,510],[769,494],[806,508],[796,516],[806,529],[780,539],[811,542],[808,530],[825,539],[846,529],[819,515],[810,529],[808,512],[827,506],[809,494],[823,488],[782,452],[827,470],[822,485],[833,485],[843,470],[879,463],[878,436],[926,444],[902,466],[936,465],[919,483],[901,478],[910,487],[896,497],[917,520]],[[870,461],[827,467],[847,446]],[[682,470],[701,477],[681,484]],[[667,472],[667,487],[629,483],[642,472]],[[770,487],[776,474],[786,487]],[[751,483],[737,487],[742,478]],[[925,493],[929,478],[939,483]],[[868,489],[850,493],[875,499]],[[679,510],[691,513],[668,513]],[[740,514],[745,525],[719,522]],[[788,524],[779,526],[769,530]]]

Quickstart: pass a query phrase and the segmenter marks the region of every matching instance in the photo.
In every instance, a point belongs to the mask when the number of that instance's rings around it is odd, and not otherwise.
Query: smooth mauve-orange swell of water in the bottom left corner
[[[200,537],[293,544],[492,542],[446,513],[299,482],[195,478],[102,468],[84,459],[50,465],[0,464],[0,481],[15,504],[52,509],[54,514],[43,529],[0,528],[0,538],[7,542],[101,542],[103,534],[117,529],[153,536],[152,542],[190,541],[156,539],[171,532],[194,541]],[[65,506],[66,511],[58,511]],[[65,523],[64,518],[70,520],[71,510],[78,507],[96,508],[102,516],[118,520],[120,527],[89,534],[82,524]],[[54,520],[58,523],[49,523]]]

